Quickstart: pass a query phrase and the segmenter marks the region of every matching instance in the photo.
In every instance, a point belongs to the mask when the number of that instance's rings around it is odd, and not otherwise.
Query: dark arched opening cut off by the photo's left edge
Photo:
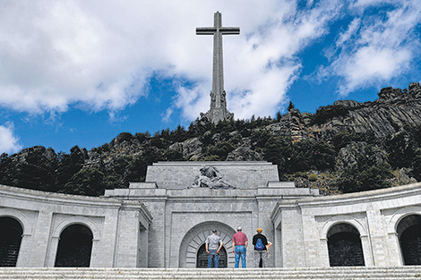
[[[22,233],[18,221],[9,216],[0,217],[0,267],[16,267]]]

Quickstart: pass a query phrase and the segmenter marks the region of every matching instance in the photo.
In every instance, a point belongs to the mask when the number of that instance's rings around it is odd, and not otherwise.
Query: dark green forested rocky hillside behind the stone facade
[[[270,161],[282,181],[323,194],[421,181],[421,87],[382,89],[374,102],[337,101],[316,114],[288,113],[151,135],[122,132],[101,147],[24,148],[0,157],[0,183],[41,191],[99,196],[142,182],[157,161]]]

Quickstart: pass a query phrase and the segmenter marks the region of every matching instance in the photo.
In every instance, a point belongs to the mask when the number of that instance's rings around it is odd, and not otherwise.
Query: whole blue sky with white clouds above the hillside
[[[212,38],[223,26],[236,118],[377,98],[420,81],[419,0],[2,0],[0,153],[69,152],[120,132],[188,127],[210,104]]]

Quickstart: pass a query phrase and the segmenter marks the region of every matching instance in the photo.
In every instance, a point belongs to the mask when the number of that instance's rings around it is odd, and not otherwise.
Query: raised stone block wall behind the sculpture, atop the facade
[[[278,182],[276,165],[268,162],[158,162],[148,166],[146,182],[156,182],[158,188],[185,189],[201,174],[203,165],[216,167],[223,182],[238,189],[257,189],[268,182]]]

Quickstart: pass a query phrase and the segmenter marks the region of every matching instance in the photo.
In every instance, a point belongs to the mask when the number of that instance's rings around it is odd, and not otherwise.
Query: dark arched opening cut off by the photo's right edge
[[[421,265],[421,216],[404,217],[397,228],[404,265]]]

